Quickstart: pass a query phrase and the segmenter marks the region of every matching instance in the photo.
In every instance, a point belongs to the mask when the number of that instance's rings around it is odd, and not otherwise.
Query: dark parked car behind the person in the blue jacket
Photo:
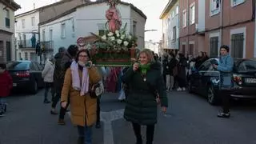
[[[206,96],[210,104],[218,104],[219,75],[211,62],[218,58],[210,58],[190,75],[188,90]],[[234,88],[230,90],[232,98],[256,98],[256,61],[250,59],[234,59]]]

